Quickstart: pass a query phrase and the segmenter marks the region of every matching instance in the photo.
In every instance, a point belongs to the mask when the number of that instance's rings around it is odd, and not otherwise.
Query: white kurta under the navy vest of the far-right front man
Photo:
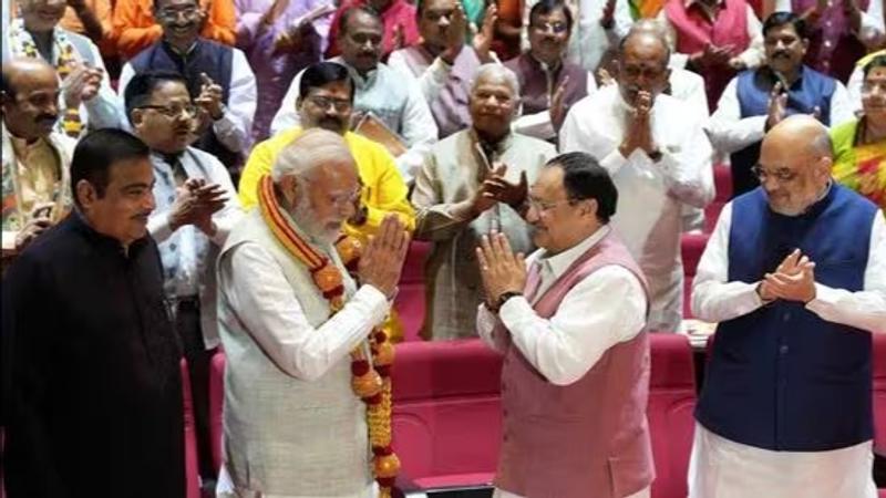
[[[732,203],[725,205],[699,261],[692,312],[731,320],[762,305],[759,282],[729,282]],[[864,290],[815,284],[806,309],[823,320],[886,333],[886,220],[870,230]],[[828,452],[772,452],[739,444],[697,425],[689,471],[690,498],[875,498],[872,443]]]

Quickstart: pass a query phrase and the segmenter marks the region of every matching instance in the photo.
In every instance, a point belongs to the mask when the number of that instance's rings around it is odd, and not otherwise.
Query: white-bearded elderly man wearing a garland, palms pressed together
[[[360,183],[344,139],[306,131],[259,180],[219,257],[227,354],[218,496],[390,496],[390,310],[409,237],[382,221],[359,284],[336,253]],[[362,400],[362,402],[361,402]],[[364,405],[365,403],[365,405]]]

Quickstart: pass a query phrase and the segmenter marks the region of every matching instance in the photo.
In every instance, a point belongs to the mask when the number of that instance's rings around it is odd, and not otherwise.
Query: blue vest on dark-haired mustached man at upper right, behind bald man
[[[769,69],[744,71],[736,76],[736,93],[741,117],[765,116],[769,113],[769,96],[775,79]],[[786,114],[812,114],[820,108],[818,121],[830,126],[831,96],[836,90],[836,80],[813,69],[803,66],[800,77],[787,91]],[[732,164],[732,197],[753,190],[760,180],[751,168],[760,159],[760,142],[751,144],[730,156]]]

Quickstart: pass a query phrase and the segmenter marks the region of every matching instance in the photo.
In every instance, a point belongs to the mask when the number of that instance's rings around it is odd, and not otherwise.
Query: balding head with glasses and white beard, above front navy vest
[[[766,134],[759,176],[772,209],[796,216],[812,206],[831,179],[833,149],[827,128],[812,116],[783,120]]]

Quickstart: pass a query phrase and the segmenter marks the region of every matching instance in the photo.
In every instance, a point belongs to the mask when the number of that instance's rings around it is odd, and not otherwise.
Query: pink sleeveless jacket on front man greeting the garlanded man
[[[554,315],[573,287],[607,264],[627,268],[647,288],[637,263],[610,232],[545,292],[534,305],[536,313]],[[588,312],[594,305],[588,303]],[[502,371],[504,440],[495,486],[526,498],[621,498],[645,489],[655,477],[648,391],[645,331],[610,347],[567,386],[547,382],[509,345]]]

